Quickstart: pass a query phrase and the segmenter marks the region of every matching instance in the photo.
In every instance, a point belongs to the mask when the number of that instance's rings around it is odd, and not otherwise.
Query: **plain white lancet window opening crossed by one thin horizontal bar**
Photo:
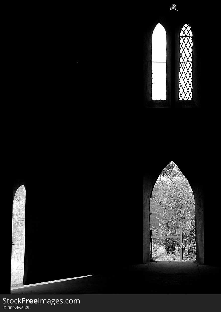
[[[166,32],[159,23],[152,35],[152,100],[166,100]]]

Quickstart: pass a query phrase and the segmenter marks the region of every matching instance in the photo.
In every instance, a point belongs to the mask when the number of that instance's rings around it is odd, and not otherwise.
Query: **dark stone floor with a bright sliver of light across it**
[[[220,267],[154,261],[108,273],[12,287],[11,294],[220,294]]]

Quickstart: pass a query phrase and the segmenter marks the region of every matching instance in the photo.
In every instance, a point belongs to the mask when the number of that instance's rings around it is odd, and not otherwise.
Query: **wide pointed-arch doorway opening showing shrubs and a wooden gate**
[[[173,161],[155,183],[150,199],[150,229],[151,235],[161,236],[152,239],[153,261],[196,261],[194,194]]]

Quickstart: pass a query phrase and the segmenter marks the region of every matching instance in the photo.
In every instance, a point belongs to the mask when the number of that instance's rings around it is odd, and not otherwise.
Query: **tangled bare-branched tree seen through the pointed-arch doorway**
[[[175,165],[175,164],[174,164]],[[172,169],[171,169],[172,167]],[[175,168],[175,169],[174,169]],[[155,203],[159,227],[153,229],[155,235],[179,236],[179,229],[183,229],[184,258],[195,258],[195,205],[193,191],[188,180],[173,164],[169,168],[169,177],[161,178],[153,189],[151,203]],[[150,203],[150,209],[151,209]],[[167,254],[174,254],[179,249],[179,240],[156,239],[164,246]]]

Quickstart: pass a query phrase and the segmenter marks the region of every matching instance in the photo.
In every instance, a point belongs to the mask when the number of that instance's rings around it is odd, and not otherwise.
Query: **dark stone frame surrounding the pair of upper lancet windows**
[[[166,32],[166,100],[152,100],[152,35],[160,23]],[[179,35],[184,24],[188,24],[193,34],[192,100],[179,100]],[[144,33],[144,107],[145,108],[197,108],[199,102],[197,88],[197,51],[194,44],[195,31],[188,19],[179,21],[173,28],[169,21],[157,19]]]

